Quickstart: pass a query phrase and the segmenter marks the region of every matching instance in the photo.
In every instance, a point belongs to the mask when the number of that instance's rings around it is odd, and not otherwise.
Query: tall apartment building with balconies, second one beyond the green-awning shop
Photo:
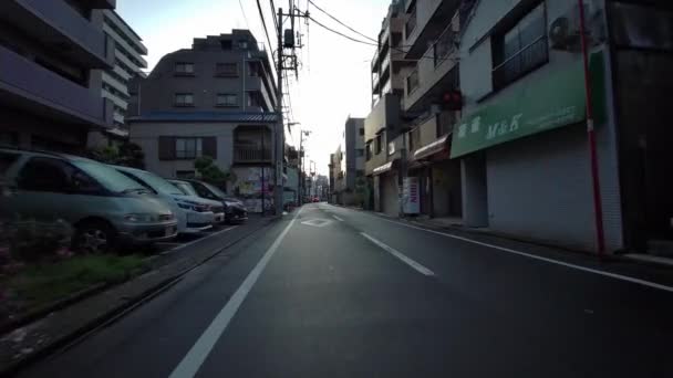
[[[402,1],[392,1],[381,24],[379,46],[372,60],[372,109],[364,120],[366,176],[365,208],[398,213],[397,167],[404,136],[402,97],[404,77],[414,66],[404,56],[404,29],[408,15]]]

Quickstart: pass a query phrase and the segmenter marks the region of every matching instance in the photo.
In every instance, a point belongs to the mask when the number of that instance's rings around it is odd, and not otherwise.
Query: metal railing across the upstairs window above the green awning
[[[548,61],[547,36],[542,35],[493,69],[494,87],[501,88]]]

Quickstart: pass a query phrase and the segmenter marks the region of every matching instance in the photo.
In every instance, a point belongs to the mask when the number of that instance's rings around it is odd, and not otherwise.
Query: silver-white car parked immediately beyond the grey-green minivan
[[[177,217],[178,233],[195,233],[209,230],[217,222],[217,217],[224,218],[224,212],[219,212],[220,209],[218,207],[214,208],[213,201],[187,196],[176,186],[154,174],[127,167],[115,166],[114,168],[162,197],[166,203],[169,203]],[[219,203],[217,204],[221,207]],[[218,214],[216,216],[213,210],[218,211]]]

